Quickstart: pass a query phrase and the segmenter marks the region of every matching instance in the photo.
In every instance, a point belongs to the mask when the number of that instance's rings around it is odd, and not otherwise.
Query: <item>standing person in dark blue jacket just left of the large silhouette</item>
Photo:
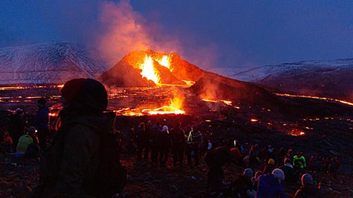
[[[37,104],[38,111],[33,118],[32,125],[38,130],[37,135],[41,148],[45,148],[50,129],[49,108],[47,107],[47,100],[44,98],[39,98],[39,100],[37,100]]]

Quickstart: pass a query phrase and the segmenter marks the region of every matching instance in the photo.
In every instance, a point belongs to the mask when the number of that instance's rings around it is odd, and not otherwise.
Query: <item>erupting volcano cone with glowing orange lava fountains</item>
[[[149,63],[148,63],[149,62]],[[150,67],[148,76],[145,70]],[[226,78],[184,61],[178,54],[162,54],[147,50],[131,52],[103,73],[99,80],[116,87],[153,87],[178,85],[190,87],[199,98],[208,100],[247,100],[252,103],[270,101],[275,96],[252,83]]]

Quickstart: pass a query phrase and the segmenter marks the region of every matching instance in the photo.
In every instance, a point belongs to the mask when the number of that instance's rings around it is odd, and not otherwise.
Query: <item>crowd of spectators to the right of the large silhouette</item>
[[[160,166],[164,167],[170,153],[173,166],[183,166],[184,155],[187,156],[186,164],[199,166],[199,160],[203,158],[209,168],[207,186],[211,197],[222,197],[230,193],[234,197],[287,197],[284,187],[299,184],[300,188],[294,197],[320,197],[327,187],[325,181],[316,185],[309,173],[330,173],[330,179],[334,180],[340,166],[336,156],[311,156],[307,159],[303,151],[294,153],[293,149],[285,148],[277,151],[271,144],[260,149],[258,144],[245,146],[237,140],[212,143],[212,140],[204,137],[207,134],[203,135],[196,125],[188,131],[181,123],[170,129],[161,122],[152,124],[148,121],[141,122],[137,130],[132,129],[130,133],[127,136],[133,140],[128,142],[136,144],[138,162],[145,159],[153,165],[159,157]],[[129,147],[132,148],[134,146]],[[221,167],[226,163],[245,168],[231,186],[223,185]]]

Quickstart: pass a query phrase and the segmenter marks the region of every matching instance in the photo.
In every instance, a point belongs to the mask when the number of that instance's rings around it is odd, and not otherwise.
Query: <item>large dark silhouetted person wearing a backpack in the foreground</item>
[[[126,172],[110,128],[112,115],[103,113],[108,106],[105,87],[76,78],[65,83],[61,96],[61,126],[41,157],[39,186],[32,197],[112,197],[121,192]]]

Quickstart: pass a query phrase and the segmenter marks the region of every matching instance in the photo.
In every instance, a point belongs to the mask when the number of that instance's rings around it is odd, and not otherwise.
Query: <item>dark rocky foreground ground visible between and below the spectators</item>
[[[165,168],[151,166],[148,162],[137,163],[132,155],[123,155],[128,168],[128,184],[122,197],[208,197],[205,190],[207,166],[201,160],[197,168],[172,167],[171,160]],[[38,160],[10,159],[1,156],[0,197],[26,197],[39,179]],[[224,167],[225,183],[230,184],[242,173],[243,167],[228,164]],[[312,173],[316,181],[326,180],[325,173]],[[329,181],[327,181],[329,182]],[[325,197],[353,197],[352,177],[340,175],[327,188]],[[286,186],[293,197],[299,186]]]

